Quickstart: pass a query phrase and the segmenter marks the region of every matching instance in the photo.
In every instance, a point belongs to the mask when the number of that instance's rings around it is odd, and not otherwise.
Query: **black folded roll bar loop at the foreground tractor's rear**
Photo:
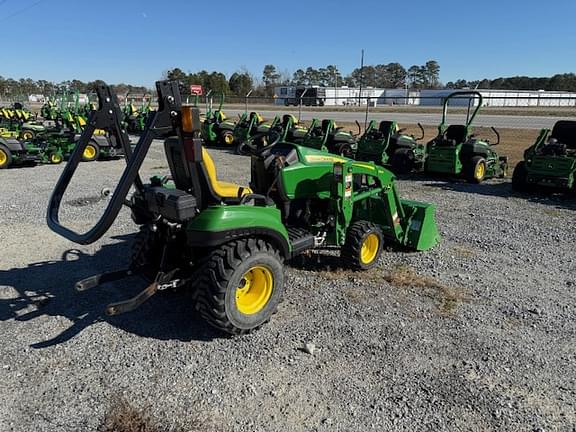
[[[64,167],[64,171],[56,183],[56,187],[52,192],[48,204],[46,216],[48,227],[56,234],[78,244],[86,245],[94,243],[110,229],[110,226],[116,220],[122,205],[126,202],[126,196],[132,185],[139,191],[142,191],[143,185],[139,170],[150,149],[152,140],[174,134],[175,121],[180,115],[182,107],[180,89],[177,81],[158,81],[156,82],[156,90],[158,91],[158,110],[154,116],[148,120],[144,132],[140,136],[134,151],[132,151],[128,135],[122,128],[123,116],[115,92],[106,84],[97,86],[98,109],[90,112],[86,126],[80,139],[76,143],[74,152],[70,156],[68,163]],[[95,129],[108,130],[114,135],[117,142],[122,145],[126,168],[122,173],[122,177],[116,186],[116,190],[106,210],[98,222],[87,232],[77,233],[60,224],[60,205],[70,181],[78,168],[78,164],[82,159],[84,149],[92,138]]]

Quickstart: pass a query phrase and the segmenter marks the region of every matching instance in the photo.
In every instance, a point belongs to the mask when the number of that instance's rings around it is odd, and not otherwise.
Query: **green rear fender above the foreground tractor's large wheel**
[[[288,231],[276,207],[208,207],[188,223],[186,234],[192,247],[214,247],[238,238],[261,237],[278,248],[284,258],[290,258]]]

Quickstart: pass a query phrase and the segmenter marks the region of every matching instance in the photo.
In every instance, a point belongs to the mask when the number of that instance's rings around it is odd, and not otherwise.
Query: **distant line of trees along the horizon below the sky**
[[[184,83],[185,95],[190,94],[190,84],[201,85],[206,91],[243,97],[249,91],[253,96],[270,97],[274,94],[274,87],[280,85],[305,86],[349,86],[349,87],[377,87],[377,88],[481,88],[493,90],[549,90],[576,92],[576,75],[574,73],[556,74],[552,77],[515,76],[496,79],[482,79],[467,81],[459,79],[443,85],[440,82],[440,65],[435,60],[429,60],[423,65],[412,65],[405,68],[400,63],[387,63],[366,65],[356,68],[350,74],[343,75],[335,65],[321,68],[307,67],[297,69],[290,74],[279,71],[275,65],[265,65],[262,75],[256,77],[249,71],[242,69],[227,77],[218,71],[184,72],[181,68],[170,69],[163,74],[164,78],[176,79]],[[54,83],[46,80],[32,80],[21,78],[15,80],[0,76],[0,97],[24,97],[30,94],[43,94],[45,96],[68,91],[90,93],[102,81],[83,82],[80,80],[67,80]],[[117,94],[153,94],[152,89],[145,86],[131,84],[116,84],[112,86]]]

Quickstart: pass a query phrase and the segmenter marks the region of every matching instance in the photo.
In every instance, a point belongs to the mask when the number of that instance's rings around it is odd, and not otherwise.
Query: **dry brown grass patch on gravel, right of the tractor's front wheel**
[[[454,313],[461,303],[471,300],[469,290],[444,285],[430,276],[421,276],[409,266],[394,268],[384,279],[399,288],[418,289],[424,296],[434,300],[438,310],[446,315]]]

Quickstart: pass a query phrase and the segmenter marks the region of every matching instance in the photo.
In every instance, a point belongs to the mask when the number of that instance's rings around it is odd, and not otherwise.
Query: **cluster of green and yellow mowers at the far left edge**
[[[49,99],[40,117],[22,109],[20,104],[0,110],[0,169],[13,165],[59,164],[67,159],[80,133],[86,127],[91,104],[80,106],[78,94],[74,106],[63,95],[58,104]],[[60,105],[60,106],[58,106]],[[114,158],[122,155],[115,138],[104,130],[95,130],[83,153],[83,161]]]

